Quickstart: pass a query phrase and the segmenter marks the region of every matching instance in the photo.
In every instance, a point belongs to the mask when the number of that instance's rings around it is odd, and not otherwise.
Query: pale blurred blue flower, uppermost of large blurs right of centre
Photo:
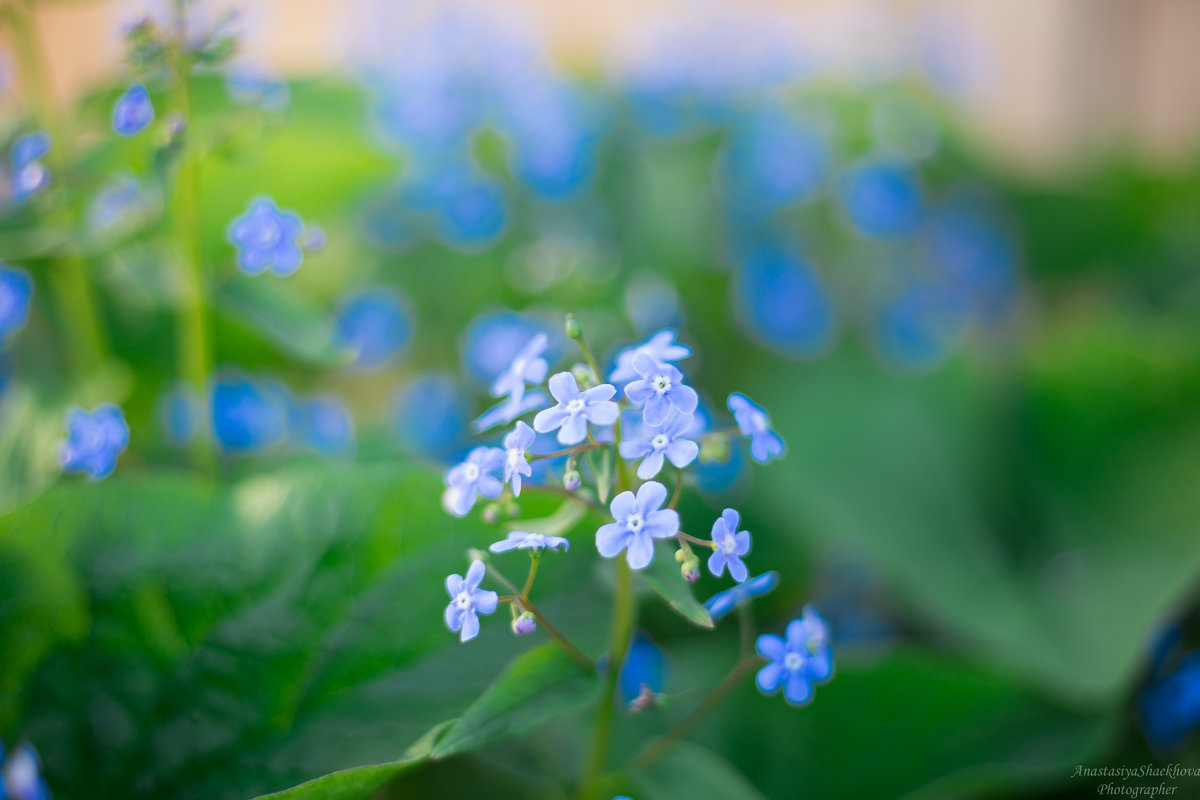
[[[757,216],[798,203],[820,188],[829,152],[821,136],[779,106],[738,118],[721,157],[726,203]]]

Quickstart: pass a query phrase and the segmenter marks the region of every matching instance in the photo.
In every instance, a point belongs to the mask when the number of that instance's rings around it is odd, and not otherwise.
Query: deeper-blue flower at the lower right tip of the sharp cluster
[[[784,699],[792,705],[804,705],[812,699],[812,685],[833,676],[833,651],[828,644],[824,622],[812,607],[804,609],[803,619],[787,625],[787,639],[773,633],[758,637],[755,648],[770,663],[758,670],[755,682],[767,694],[784,687]]]

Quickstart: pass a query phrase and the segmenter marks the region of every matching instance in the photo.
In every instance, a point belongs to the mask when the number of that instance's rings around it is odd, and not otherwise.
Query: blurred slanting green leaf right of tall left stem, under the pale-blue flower
[[[334,343],[331,314],[278,281],[238,276],[215,293],[226,318],[251,329],[296,359],[336,366],[349,359]]]

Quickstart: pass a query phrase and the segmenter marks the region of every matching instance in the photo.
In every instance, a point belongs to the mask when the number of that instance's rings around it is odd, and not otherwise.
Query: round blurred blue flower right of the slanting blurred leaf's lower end
[[[365,369],[385,365],[413,341],[406,302],[391,289],[372,287],[347,294],[334,319],[340,348]]]

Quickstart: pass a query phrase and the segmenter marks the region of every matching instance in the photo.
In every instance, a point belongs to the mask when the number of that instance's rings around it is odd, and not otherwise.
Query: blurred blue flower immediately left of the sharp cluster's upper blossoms
[[[446,457],[458,449],[468,414],[462,390],[452,378],[426,373],[401,391],[392,419],[406,451]]]

